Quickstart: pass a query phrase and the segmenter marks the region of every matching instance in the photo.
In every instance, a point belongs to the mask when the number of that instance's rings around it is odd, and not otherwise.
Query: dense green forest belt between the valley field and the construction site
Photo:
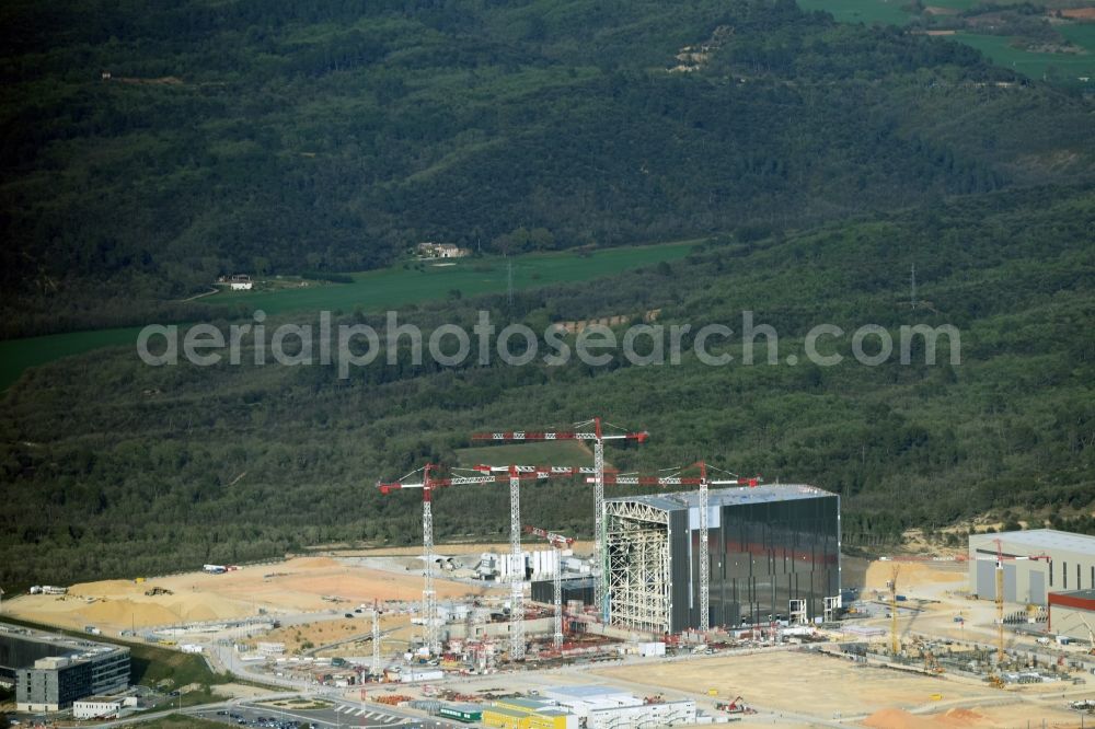
[[[424,462],[453,463],[475,431],[565,426],[602,415],[650,441],[613,448],[621,468],[706,459],[843,497],[846,545],[991,513],[1093,529],[1095,193],[1042,187],[935,201],[820,228],[719,236],[684,259],[597,285],[451,300],[401,312],[427,332],[496,323],[638,316],[773,326],[780,364],[606,367],[227,362],[154,368],[131,348],[30,371],[0,402],[0,581],[65,582],[242,562],[311,544],[413,544],[415,494],[382,497]],[[918,291],[910,290],[915,266]],[[382,326],[379,315],[341,321]],[[952,324],[961,359],[897,357],[834,367],[803,352],[815,325]],[[268,321],[274,325],[274,319]],[[228,322],[221,322],[226,327]],[[690,344],[685,338],[685,344]],[[832,342],[849,355],[849,338]],[[761,360],[763,361],[763,360]],[[440,539],[502,537],[494,487],[442,490]],[[500,487],[499,487],[500,488]],[[616,491],[624,493],[624,491]],[[530,485],[529,518],[589,535],[591,493]],[[539,516],[537,516],[539,514]]]

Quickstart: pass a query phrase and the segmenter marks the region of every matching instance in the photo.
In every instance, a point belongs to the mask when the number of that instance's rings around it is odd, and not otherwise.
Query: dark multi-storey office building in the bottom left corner
[[[20,711],[57,711],[129,687],[129,649],[0,625],[0,673],[12,675]]]

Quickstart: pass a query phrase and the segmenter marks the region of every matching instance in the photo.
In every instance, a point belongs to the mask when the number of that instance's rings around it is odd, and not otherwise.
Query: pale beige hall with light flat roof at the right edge
[[[1095,589],[1095,536],[1031,529],[969,535],[969,589],[979,598],[996,598],[996,540],[1004,602],[1046,605],[1051,592]]]

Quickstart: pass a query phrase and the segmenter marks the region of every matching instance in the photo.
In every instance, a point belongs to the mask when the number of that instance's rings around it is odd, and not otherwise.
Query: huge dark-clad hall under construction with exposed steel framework
[[[805,623],[840,605],[840,497],[805,485],[708,494],[710,625]],[[604,501],[609,620],[650,633],[701,625],[700,495]]]

